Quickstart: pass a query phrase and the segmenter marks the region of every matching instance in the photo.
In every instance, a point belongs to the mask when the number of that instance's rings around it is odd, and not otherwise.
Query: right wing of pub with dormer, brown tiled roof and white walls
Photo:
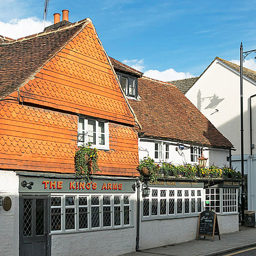
[[[194,165],[203,154],[207,166],[231,167],[231,142],[177,87],[145,77],[114,58],[111,61],[142,125],[138,131],[140,160],[150,157],[160,166],[163,162]],[[239,187],[240,181],[222,178],[209,182],[168,177],[154,184],[145,180],[141,184],[136,248],[196,239],[198,216],[205,209],[217,213],[221,233],[238,231]]]

